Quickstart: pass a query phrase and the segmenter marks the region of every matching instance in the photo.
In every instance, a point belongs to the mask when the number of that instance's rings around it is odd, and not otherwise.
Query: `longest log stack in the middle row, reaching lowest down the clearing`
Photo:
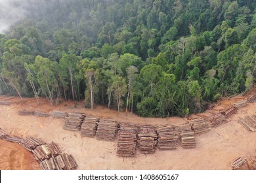
[[[117,156],[136,156],[138,127],[133,124],[120,124],[117,136]]]

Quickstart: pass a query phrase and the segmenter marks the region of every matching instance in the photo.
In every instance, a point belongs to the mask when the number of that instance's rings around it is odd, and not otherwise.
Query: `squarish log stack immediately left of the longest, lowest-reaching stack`
[[[117,122],[116,120],[100,119],[96,131],[96,137],[106,141],[114,141],[116,139]]]

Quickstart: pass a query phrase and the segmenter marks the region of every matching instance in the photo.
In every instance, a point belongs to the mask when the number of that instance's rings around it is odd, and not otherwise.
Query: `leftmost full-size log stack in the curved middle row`
[[[64,129],[79,131],[84,118],[85,114],[83,113],[69,113],[68,116],[65,117]]]

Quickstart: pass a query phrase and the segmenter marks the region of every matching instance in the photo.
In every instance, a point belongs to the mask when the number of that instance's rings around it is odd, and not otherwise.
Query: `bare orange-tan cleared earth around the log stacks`
[[[256,92],[256,91],[253,91]],[[224,99],[215,107],[190,117],[209,116],[221,108],[241,100],[243,97]],[[72,154],[77,161],[77,169],[231,169],[230,163],[240,157],[251,158],[256,155],[256,133],[247,131],[238,124],[238,116],[256,114],[256,103],[249,103],[228,118],[228,122],[211,129],[208,133],[196,136],[196,148],[160,151],[155,154],[140,154],[135,158],[116,156],[116,142],[98,141],[95,138],[81,137],[79,131],[63,129],[64,120],[52,117],[19,116],[18,110],[33,109],[43,112],[59,110],[64,112],[84,112],[87,116],[111,118],[118,122],[135,124],[174,124],[185,122],[184,118],[141,118],[125,112],[96,106],[95,110],[83,108],[83,102],[63,102],[51,106],[45,99],[38,105],[35,99],[0,96],[0,100],[10,101],[10,106],[0,106],[0,128],[11,135],[33,136],[47,143],[56,142],[63,152]],[[40,169],[33,155],[19,144],[0,141],[0,169]]]

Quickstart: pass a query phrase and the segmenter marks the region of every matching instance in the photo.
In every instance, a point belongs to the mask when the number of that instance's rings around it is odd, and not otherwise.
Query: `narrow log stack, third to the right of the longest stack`
[[[179,126],[179,133],[181,135],[182,148],[196,148],[194,131],[191,129],[190,125],[183,124]]]

